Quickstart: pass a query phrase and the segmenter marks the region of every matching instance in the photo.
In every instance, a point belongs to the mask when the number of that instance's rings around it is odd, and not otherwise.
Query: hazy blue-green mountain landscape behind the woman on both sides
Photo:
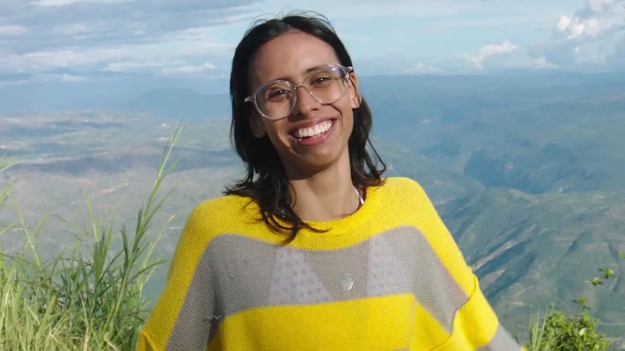
[[[600,267],[625,274],[625,262],[617,264],[617,252],[625,252],[622,76],[377,76],[360,83],[387,175],[424,187],[508,329],[523,335],[539,307],[574,307],[585,295],[602,328],[625,334],[621,280],[594,290],[584,284]],[[192,207],[242,175],[228,140],[229,97],[153,89],[108,107],[0,119],[0,154],[25,159],[11,174],[16,195],[29,203],[24,216],[37,220],[54,210],[80,221],[88,215],[85,190],[98,213],[112,210],[131,225],[159,148],[180,121],[191,126],[174,149],[180,167],[167,184],[184,182],[154,223],[164,229],[156,253],[168,259]],[[63,247],[59,237],[47,240]],[[150,294],[158,295],[165,276],[163,267]]]

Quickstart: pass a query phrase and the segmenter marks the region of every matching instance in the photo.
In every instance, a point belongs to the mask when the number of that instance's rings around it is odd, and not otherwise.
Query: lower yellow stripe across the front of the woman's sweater
[[[409,294],[246,310],[227,317],[219,330],[208,350],[392,351],[412,344],[411,350],[425,351],[449,338]]]

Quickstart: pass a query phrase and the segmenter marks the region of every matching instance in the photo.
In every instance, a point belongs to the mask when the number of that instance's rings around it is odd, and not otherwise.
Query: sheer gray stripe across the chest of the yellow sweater
[[[204,320],[214,311],[222,320],[258,307],[397,294],[414,295],[450,334],[454,315],[469,299],[424,235],[412,227],[388,230],[341,250],[304,250],[220,235],[202,254],[166,350],[205,349],[217,325],[211,328]]]

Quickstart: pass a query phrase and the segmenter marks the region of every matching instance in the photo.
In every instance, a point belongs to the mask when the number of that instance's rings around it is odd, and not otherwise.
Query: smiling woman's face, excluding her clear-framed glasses
[[[344,86],[344,94],[331,104],[322,104],[301,86],[303,82],[314,85],[313,80],[324,81],[316,76],[311,80],[311,72],[331,64],[341,62],[329,44],[297,31],[261,46],[251,62],[251,92],[278,79],[299,86],[293,93],[296,104],[285,118],[267,119],[256,112],[250,119],[252,134],[269,137],[289,175],[321,171],[339,159],[349,162],[347,141],[354,124],[352,109],[359,106],[356,76],[351,74],[351,82],[339,83]],[[269,94],[272,93],[267,91],[263,96]],[[280,97],[278,93],[271,96],[274,101]],[[309,136],[326,129],[319,136]]]

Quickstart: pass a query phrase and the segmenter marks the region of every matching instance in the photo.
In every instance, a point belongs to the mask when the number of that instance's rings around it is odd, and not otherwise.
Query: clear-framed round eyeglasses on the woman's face
[[[273,81],[260,86],[244,102],[252,101],[256,110],[268,119],[289,116],[297,104],[297,88],[304,87],[313,99],[321,104],[333,104],[347,91],[352,67],[337,64],[317,67],[299,86],[287,81]]]

